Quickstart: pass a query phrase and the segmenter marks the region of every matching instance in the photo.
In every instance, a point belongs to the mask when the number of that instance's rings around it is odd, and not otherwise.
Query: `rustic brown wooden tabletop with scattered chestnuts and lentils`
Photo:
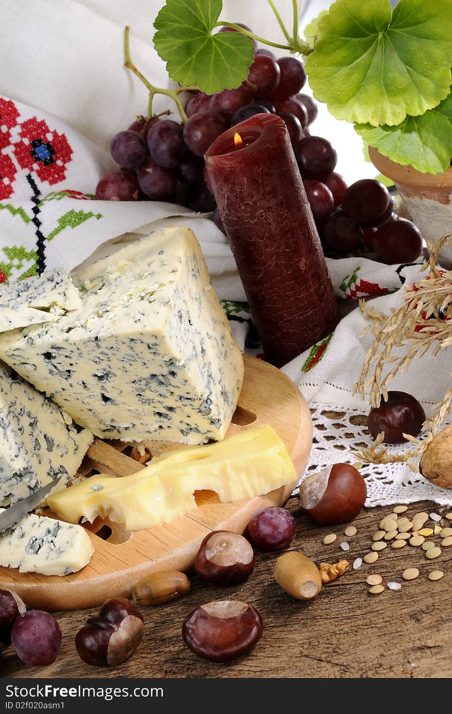
[[[319,528],[301,513],[298,498],[287,504],[296,518],[298,531],[293,548],[302,550],[316,563],[350,563],[371,546],[378,521],[391,506],[363,510],[355,525],[358,533],[341,537],[345,526]],[[407,514],[432,511],[442,515],[450,508],[433,503],[409,506]],[[443,519],[444,526],[449,525]],[[326,533],[337,533],[333,545],[323,545]],[[344,553],[339,543],[348,540]],[[435,536],[438,540],[438,536]],[[11,647],[3,651],[5,677],[451,677],[452,638],[452,548],[443,548],[436,560],[427,560],[421,548],[388,547],[373,565],[351,567],[335,582],[326,585],[315,600],[298,602],[283,593],[273,579],[276,553],[256,552],[256,568],[247,583],[237,588],[216,588],[192,580],[186,598],[158,608],[141,608],[146,622],[144,639],[131,660],[104,670],[79,660],[74,636],[93,610],[57,613],[63,630],[63,647],[56,662],[34,669],[22,665]],[[417,567],[420,575],[406,582],[404,568]],[[428,580],[431,570],[443,570],[438,582]],[[395,580],[401,590],[370,595],[366,578],[380,573],[383,583]],[[264,622],[261,641],[247,657],[228,665],[196,658],[181,639],[181,623],[192,608],[210,600],[246,600],[260,610]]]

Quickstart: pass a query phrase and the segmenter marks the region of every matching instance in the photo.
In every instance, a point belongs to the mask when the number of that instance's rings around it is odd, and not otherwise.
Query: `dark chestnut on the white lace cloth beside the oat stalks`
[[[367,428],[376,438],[384,433],[384,443],[401,444],[406,442],[403,433],[418,436],[426,413],[416,398],[406,392],[388,392],[388,399],[381,399],[381,404],[368,413]]]

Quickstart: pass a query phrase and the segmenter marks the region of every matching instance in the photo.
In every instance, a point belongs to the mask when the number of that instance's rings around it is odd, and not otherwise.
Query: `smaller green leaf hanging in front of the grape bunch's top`
[[[154,22],[154,46],[171,79],[207,94],[240,86],[254,58],[246,36],[211,34],[222,6],[221,0],[166,0]]]

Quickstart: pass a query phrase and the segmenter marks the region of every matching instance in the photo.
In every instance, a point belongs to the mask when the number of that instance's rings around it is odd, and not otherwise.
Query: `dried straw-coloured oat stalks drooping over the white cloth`
[[[428,271],[428,276],[413,286],[403,286],[403,303],[393,309],[390,316],[382,315],[360,301],[361,311],[373,322],[375,339],[364,359],[354,393],[358,392],[364,398],[368,391],[371,406],[378,406],[381,396],[388,398],[388,387],[393,378],[399,371],[405,372],[414,357],[423,357],[430,348],[437,355],[452,345],[452,271],[438,268],[438,251],[443,246],[452,246],[450,233],[434,244],[428,243],[431,254],[421,268]],[[396,348],[398,355],[393,354]],[[411,436],[406,437],[416,443],[414,451],[389,454],[382,443],[383,438],[378,435],[372,446],[353,451],[353,454],[366,463],[406,461],[413,471],[417,471],[413,459],[425,451],[433,434],[451,411],[452,389],[436,405],[433,416],[424,422],[423,431],[428,433],[426,439],[418,441]]]

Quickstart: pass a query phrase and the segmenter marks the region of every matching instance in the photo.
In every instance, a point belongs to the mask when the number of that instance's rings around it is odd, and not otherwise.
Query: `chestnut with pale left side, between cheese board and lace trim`
[[[361,511],[366,497],[366,481],[350,463],[326,466],[300,485],[301,506],[320,526],[351,521]]]

